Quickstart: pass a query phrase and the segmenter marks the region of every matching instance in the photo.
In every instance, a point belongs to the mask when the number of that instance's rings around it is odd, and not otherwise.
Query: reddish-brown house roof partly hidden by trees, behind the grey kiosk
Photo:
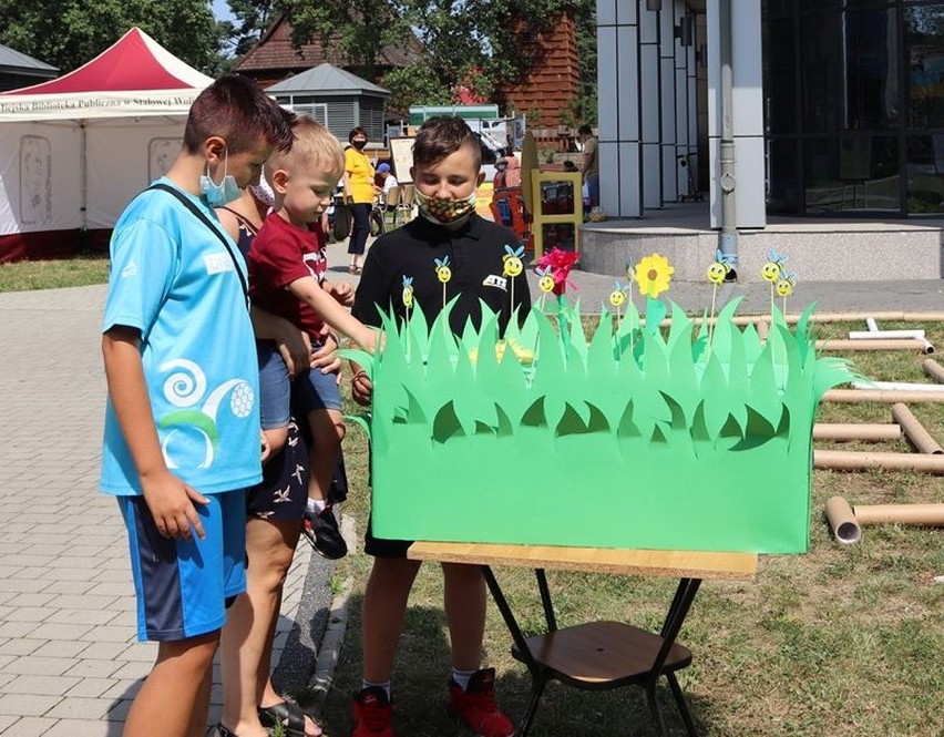
[[[391,44],[380,50],[377,61],[383,66],[404,66],[415,61],[421,51],[419,41],[407,47]],[[309,69],[324,62],[336,66],[351,65],[351,60],[341,53],[337,38],[331,38],[327,44],[322,44],[320,37],[316,35],[300,49],[295,49],[291,45],[291,24],[284,16],[279,16],[235,69],[239,72]]]

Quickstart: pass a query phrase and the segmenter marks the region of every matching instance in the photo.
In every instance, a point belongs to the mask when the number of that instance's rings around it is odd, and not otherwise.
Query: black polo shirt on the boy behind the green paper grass
[[[450,231],[417,217],[402,227],[380,236],[370,247],[351,313],[361,323],[380,327],[376,306],[388,311],[392,305],[399,319],[407,314],[403,305],[403,277],[412,277],[413,301],[427,319],[442,310],[442,283],[437,278],[435,259],[449,256],[452,278],[445,284],[445,299],[456,295],[450,327],[462,334],[472,317],[478,327],[479,300],[501,315],[504,328],[511,316],[511,278],[502,276],[505,246],[519,247],[514,233],[473,214],[461,228]],[[524,272],[514,278],[514,304],[523,321],[531,308],[531,294]]]

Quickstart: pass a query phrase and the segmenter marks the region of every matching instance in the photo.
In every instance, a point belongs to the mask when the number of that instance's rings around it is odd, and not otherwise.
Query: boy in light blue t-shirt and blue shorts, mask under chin
[[[101,488],[127,526],[138,638],[158,642],[125,737],[204,733],[226,602],[245,590],[258,372],[246,265],[213,207],[291,145],[291,117],[248,79],[220,78],[191,108],[167,191],[135,197],[112,236]]]

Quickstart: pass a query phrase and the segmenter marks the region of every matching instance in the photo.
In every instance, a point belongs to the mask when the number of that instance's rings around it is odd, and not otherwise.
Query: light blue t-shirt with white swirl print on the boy
[[[218,223],[206,203],[184,194]],[[232,244],[223,227],[218,229]],[[236,272],[245,279],[246,264],[235,244],[230,253],[172,194],[156,190],[131,202],[111,242],[102,330],[127,326],[141,331],[144,378],[164,460],[172,473],[202,493],[244,489],[261,480],[259,373]],[[101,489],[141,493],[111,401]]]

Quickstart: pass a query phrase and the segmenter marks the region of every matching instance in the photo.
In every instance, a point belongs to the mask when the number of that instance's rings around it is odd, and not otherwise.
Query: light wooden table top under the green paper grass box
[[[722,581],[751,581],[757,573],[757,553],[414,542],[407,556],[415,561]]]

